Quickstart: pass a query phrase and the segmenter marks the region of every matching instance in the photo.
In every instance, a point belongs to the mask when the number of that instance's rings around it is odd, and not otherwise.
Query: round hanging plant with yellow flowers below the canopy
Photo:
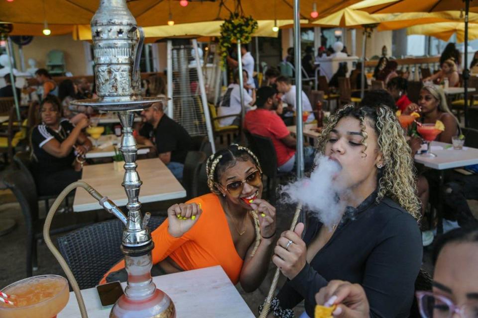
[[[252,16],[246,17],[239,15],[239,13],[231,13],[229,19],[221,25],[219,51],[223,57],[222,61],[224,62],[233,43],[237,43],[238,40],[241,44],[249,43],[255,30],[257,30],[257,21]]]

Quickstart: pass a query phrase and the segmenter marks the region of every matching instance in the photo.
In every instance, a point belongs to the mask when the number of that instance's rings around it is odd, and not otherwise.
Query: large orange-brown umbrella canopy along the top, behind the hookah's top
[[[307,19],[317,5],[319,17],[343,9],[359,0],[301,0],[300,18]],[[43,3],[45,10],[43,14]],[[178,0],[131,0],[128,7],[140,26],[165,25],[169,8],[173,20],[180,23],[224,20],[235,11],[237,4],[244,15],[256,20],[293,19],[292,0],[190,0],[186,7]],[[43,24],[90,24],[98,8],[98,0],[27,0],[0,1],[0,21],[13,23]]]

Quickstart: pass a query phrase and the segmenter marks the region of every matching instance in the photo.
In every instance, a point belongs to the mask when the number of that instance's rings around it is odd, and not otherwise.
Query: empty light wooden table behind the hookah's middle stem
[[[184,198],[186,190],[159,158],[136,160],[137,171],[143,184],[139,192],[141,203]],[[91,164],[83,167],[81,181],[113,200],[118,206],[128,202],[123,182],[124,170],[115,169],[114,163]],[[77,189],[73,211],[83,212],[103,209],[100,203],[83,189]]]

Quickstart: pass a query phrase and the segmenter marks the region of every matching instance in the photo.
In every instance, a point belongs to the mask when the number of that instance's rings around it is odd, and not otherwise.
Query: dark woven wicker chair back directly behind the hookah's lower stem
[[[153,231],[165,218],[151,217]],[[109,220],[84,227],[57,239],[58,249],[75,276],[80,289],[98,285],[103,275],[123,258],[121,221]]]

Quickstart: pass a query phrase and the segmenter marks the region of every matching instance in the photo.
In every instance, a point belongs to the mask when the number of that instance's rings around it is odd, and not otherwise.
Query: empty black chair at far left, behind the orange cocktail
[[[26,275],[32,276],[33,268],[38,267],[36,244],[43,238],[45,219],[38,216],[38,198],[35,183],[31,175],[24,170],[9,170],[3,177],[3,183],[15,195],[25,218],[26,239]],[[56,214],[50,229],[50,234],[68,232],[81,228],[96,221],[96,213],[60,213]]]

